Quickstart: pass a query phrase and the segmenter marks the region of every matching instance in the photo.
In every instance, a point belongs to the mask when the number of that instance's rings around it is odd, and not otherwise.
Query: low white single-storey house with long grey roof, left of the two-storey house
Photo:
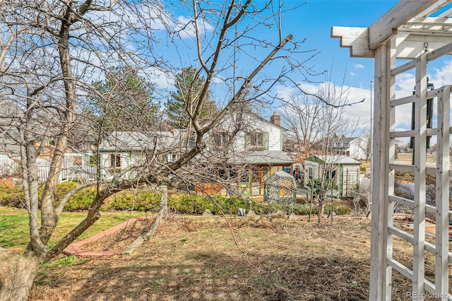
[[[153,155],[159,157],[159,162],[173,163],[194,145],[186,133],[179,129],[155,133],[114,131],[100,143],[100,176],[112,177],[115,172],[143,163]]]

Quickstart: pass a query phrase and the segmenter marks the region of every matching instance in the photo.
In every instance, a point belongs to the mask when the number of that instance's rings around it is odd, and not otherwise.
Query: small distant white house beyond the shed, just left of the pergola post
[[[361,137],[336,136],[330,139],[331,153],[347,155],[355,160],[366,160],[367,141]]]

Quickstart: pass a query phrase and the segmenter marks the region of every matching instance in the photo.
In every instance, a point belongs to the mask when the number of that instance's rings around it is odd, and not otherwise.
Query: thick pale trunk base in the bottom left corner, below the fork
[[[27,301],[40,266],[31,253],[19,255],[0,248],[0,300]]]

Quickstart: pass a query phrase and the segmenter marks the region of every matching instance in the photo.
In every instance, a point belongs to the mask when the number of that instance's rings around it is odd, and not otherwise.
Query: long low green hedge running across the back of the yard
[[[77,186],[74,182],[63,182],[59,184],[56,191],[56,198],[61,199],[68,191]],[[40,190],[42,193],[42,189]],[[95,187],[83,189],[83,191],[75,194],[65,206],[65,211],[83,211],[90,208],[90,204],[95,198]],[[138,190],[121,191],[113,196],[110,196],[102,206],[103,211],[158,211],[160,205],[161,194],[154,191]],[[13,206],[23,208],[23,193],[18,188],[0,187],[0,205]],[[218,206],[217,206],[218,205]],[[246,208],[249,210],[248,201],[244,201],[237,197],[215,196],[209,198],[207,196],[198,196],[195,194],[169,194],[168,208],[171,211],[181,214],[202,214],[206,209],[210,210],[215,215],[220,214],[222,208],[223,213],[235,214],[239,208]],[[252,209],[256,213],[268,214],[274,213],[278,210],[289,213],[292,208],[288,204],[262,204],[252,203]],[[328,204],[325,207],[325,214],[328,214],[331,206]],[[350,213],[350,208],[333,206],[336,214]],[[295,204],[293,212],[297,215],[316,214],[314,209],[310,209],[306,204]]]

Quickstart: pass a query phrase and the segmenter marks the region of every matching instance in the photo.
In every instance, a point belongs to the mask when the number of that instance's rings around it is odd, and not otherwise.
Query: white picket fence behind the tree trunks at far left
[[[83,158],[81,164],[73,164],[71,155],[64,158],[58,182],[80,181],[87,182],[97,179],[97,168],[89,165],[89,156],[78,156]],[[20,174],[20,160],[0,155],[0,177],[4,175]],[[49,175],[52,160],[37,158],[37,177],[39,182],[45,182]],[[88,164],[86,164],[88,163]]]

